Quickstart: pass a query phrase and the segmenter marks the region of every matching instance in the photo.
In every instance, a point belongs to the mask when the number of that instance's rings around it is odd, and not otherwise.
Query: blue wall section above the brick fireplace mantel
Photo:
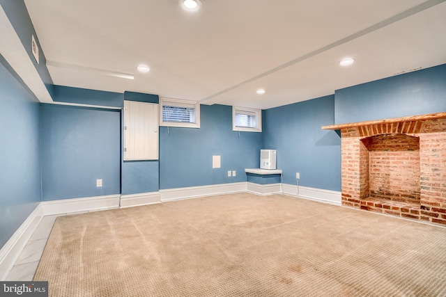
[[[335,123],[446,111],[446,64],[336,90]]]

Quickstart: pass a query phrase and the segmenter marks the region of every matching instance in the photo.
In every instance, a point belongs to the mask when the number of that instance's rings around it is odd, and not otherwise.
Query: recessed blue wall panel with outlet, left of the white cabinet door
[[[121,113],[54,104],[41,113],[43,200],[119,194]]]

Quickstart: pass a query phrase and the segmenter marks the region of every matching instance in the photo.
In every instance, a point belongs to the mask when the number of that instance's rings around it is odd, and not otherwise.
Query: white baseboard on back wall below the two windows
[[[234,182],[231,184],[190,186],[187,188],[167,188],[164,190],[160,190],[160,196],[161,201],[164,202],[244,191],[246,191],[246,182]]]

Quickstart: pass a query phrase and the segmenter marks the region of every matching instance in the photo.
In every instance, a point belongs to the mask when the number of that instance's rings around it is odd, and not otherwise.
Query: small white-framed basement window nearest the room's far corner
[[[261,109],[249,109],[245,107],[232,106],[232,130],[261,132]]]

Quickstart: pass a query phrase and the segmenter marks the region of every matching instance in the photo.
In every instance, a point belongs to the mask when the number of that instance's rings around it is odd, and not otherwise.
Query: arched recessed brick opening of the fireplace
[[[420,204],[420,138],[380,134],[361,143],[361,198]]]

